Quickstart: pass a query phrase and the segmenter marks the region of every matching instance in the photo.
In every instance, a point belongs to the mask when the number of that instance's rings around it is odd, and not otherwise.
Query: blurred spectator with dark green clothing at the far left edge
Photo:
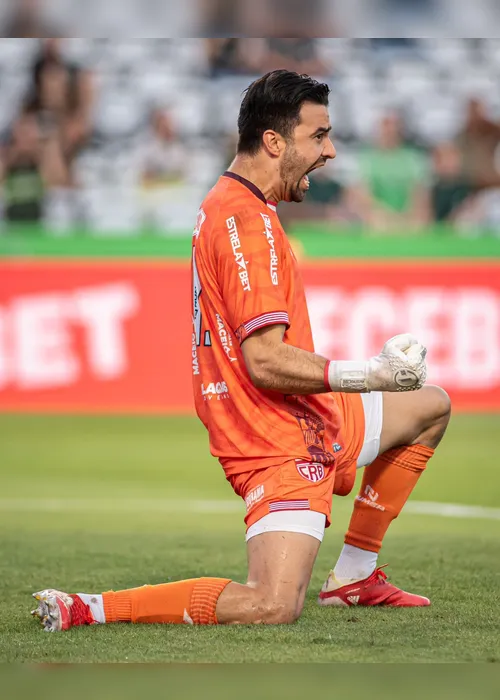
[[[21,114],[13,125],[2,149],[0,177],[4,218],[18,223],[40,221],[47,191],[67,178],[58,139],[43,138],[31,112]]]

